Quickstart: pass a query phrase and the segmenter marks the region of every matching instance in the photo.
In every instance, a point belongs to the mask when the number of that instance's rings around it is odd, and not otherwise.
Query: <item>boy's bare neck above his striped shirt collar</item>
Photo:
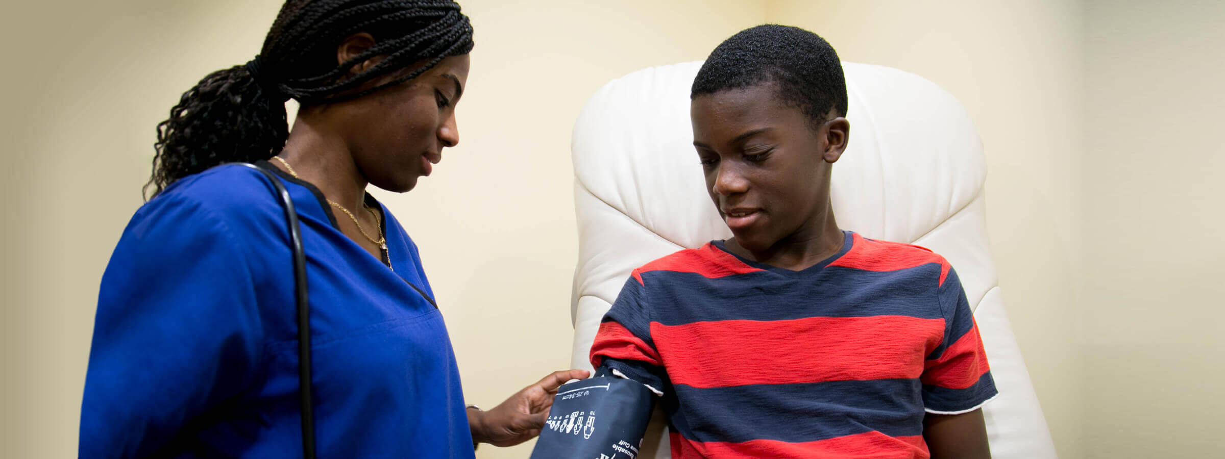
[[[846,235],[838,228],[833,212],[826,212],[824,218],[805,226],[762,251],[741,247],[735,237],[725,246],[741,257],[790,271],[810,268],[842,251]]]

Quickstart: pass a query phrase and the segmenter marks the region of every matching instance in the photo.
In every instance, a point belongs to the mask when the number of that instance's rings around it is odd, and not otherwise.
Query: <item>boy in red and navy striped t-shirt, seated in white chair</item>
[[[989,458],[996,395],[943,257],[838,228],[846,82],[816,34],[723,42],[691,93],[706,187],[734,237],[633,271],[592,365],[646,384],[673,458]]]

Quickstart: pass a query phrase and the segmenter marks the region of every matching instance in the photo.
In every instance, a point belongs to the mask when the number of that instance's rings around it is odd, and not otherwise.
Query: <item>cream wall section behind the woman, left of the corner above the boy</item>
[[[631,71],[703,59],[764,21],[763,1],[462,1],[477,48],[461,143],[403,196],[381,193],[421,248],[467,398],[494,405],[570,360],[577,256],[570,130]],[[0,277],[0,444],[76,455],[98,282],[141,204],[154,126],[206,73],[254,56],[279,1],[22,2],[9,59]],[[526,458],[530,444],[483,447]]]

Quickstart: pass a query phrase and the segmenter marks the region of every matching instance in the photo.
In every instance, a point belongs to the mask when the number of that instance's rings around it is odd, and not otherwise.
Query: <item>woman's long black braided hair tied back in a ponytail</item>
[[[375,45],[336,65],[336,47],[360,32],[374,37]],[[158,124],[146,198],[214,165],[279,153],[289,137],[285,100],[304,106],[336,103],[403,83],[447,56],[472,51],[472,32],[468,17],[452,0],[285,1],[260,55],[206,76]],[[354,66],[375,56],[383,59],[345,78]],[[358,89],[423,60],[425,65],[393,81]]]

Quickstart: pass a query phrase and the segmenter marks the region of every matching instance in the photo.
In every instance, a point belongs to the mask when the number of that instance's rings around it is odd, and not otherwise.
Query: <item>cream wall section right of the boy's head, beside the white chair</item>
[[[987,157],[987,230],[1005,305],[1056,448],[1080,457],[1079,2],[775,0],[767,11],[768,21],[821,34],[845,61],[926,77],[969,110]]]

